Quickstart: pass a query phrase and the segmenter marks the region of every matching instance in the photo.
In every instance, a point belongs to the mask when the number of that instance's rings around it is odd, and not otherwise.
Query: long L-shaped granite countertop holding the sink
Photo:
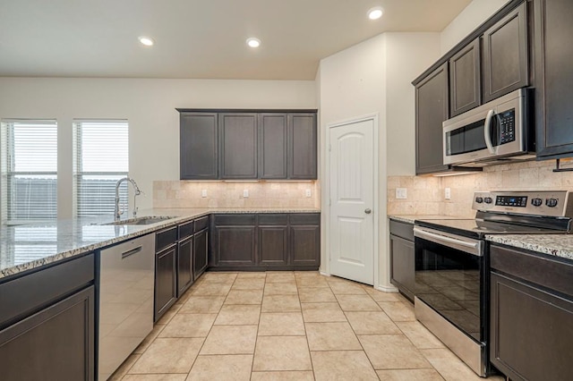
[[[320,213],[318,208],[154,208],[140,216],[173,216],[148,225],[107,224],[113,216],[73,218],[46,224],[0,227],[0,279],[126,241],[212,213]],[[123,218],[128,219],[128,218]]]

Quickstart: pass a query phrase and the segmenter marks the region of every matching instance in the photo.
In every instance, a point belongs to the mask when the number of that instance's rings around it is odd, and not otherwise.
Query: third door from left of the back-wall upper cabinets
[[[287,115],[259,114],[259,178],[286,179]]]

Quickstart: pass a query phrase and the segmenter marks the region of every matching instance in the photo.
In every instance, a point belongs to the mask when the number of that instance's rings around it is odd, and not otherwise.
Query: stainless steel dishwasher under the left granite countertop
[[[153,329],[154,277],[154,233],[99,251],[98,380]]]

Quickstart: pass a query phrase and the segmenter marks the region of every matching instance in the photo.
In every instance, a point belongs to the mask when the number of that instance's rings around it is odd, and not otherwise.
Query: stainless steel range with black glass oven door
[[[487,234],[571,233],[573,193],[478,191],[475,219],[416,220],[415,315],[481,377],[490,372]]]

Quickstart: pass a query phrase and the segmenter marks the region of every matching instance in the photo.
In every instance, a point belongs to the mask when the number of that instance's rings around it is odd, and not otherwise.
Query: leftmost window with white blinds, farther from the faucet
[[[56,219],[56,121],[3,120],[1,124],[3,221]]]

